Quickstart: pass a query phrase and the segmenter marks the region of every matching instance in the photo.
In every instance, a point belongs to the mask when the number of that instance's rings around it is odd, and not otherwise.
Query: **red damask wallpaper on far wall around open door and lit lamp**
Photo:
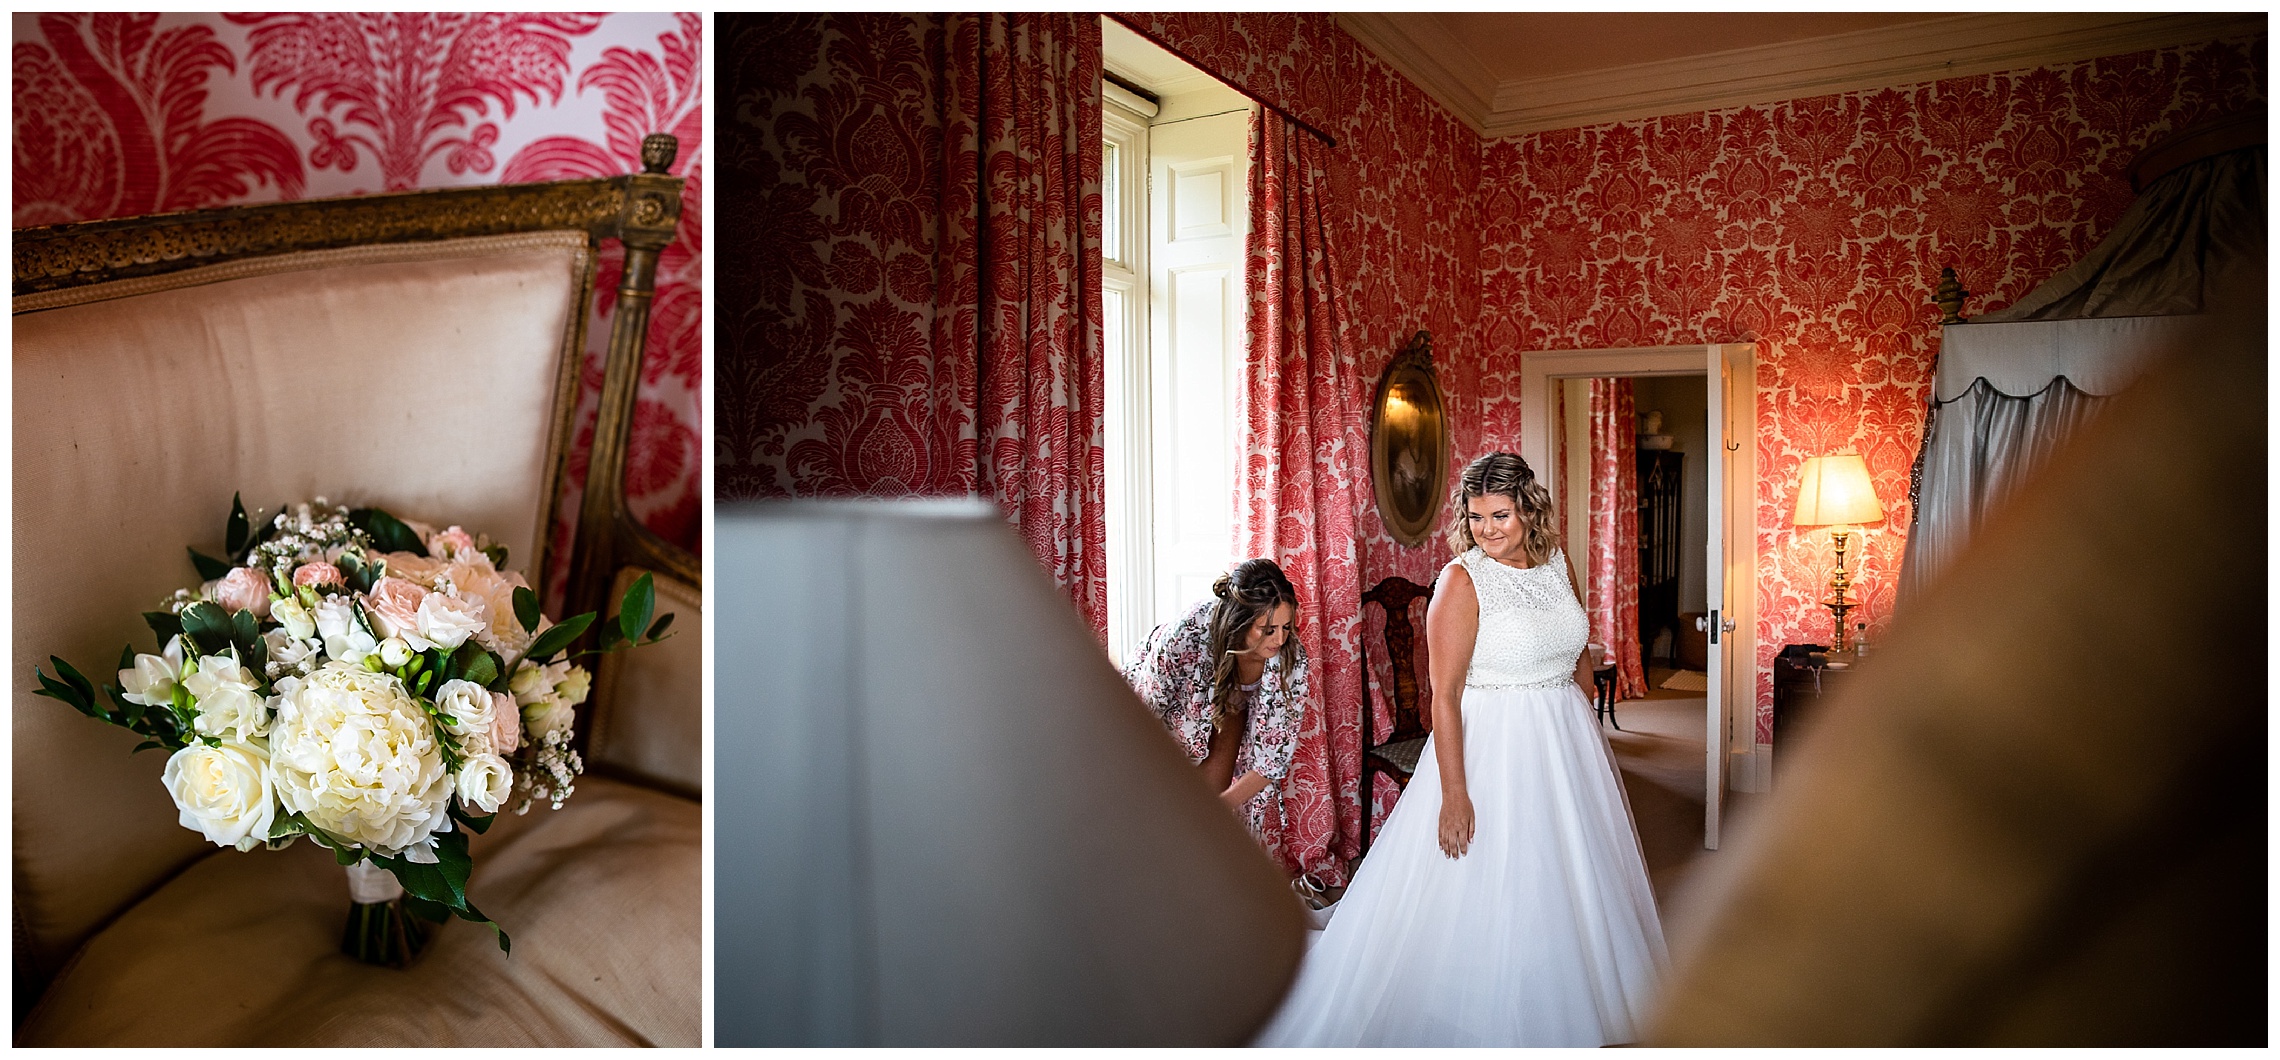
[[[1484,146],[1491,378],[1534,349],[1758,342],[1758,741],[1774,652],[1831,636],[1829,533],[1788,524],[1803,458],[1867,458],[1886,522],[1847,561],[1854,615],[1890,618],[1940,267],[1965,315],[2009,305],[2104,237],[2139,148],[2262,100],[2264,71],[2262,39],[2202,43]]]

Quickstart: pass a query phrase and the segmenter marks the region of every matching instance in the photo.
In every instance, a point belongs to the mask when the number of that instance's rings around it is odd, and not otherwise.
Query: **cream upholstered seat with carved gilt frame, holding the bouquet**
[[[702,1039],[698,563],[622,504],[657,251],[650,171],[18,230],[14,239],[16,1044],[677,1044]],[[604,239],[627,251],[575,552],[547,529]],[[109,677],[194,581],[230,495],[326,495],[511,547],[568,609],[657,574],[679,636],[604,657],[588,773],[474,839],[470,898],[406,971],[337,953],[344,873],[312,843],[217,850],[160,755],[30,695],[48,654]]]

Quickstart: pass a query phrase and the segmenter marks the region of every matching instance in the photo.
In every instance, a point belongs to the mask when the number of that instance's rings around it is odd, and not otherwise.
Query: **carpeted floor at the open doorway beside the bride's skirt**
[[[1717,857],[1717,850],[1703,850],[1703,695],[1662,688],[1669,677],[1671,670],[1655,666],[1646,682],[1653,691],[1644,700],[1614,704],[1614,720],[1623,732],[1601,725],[1623,770],[1664,935],[1671,932],[1671,912],[1683,907],[1674,896],[1685,887],[1687,873]],[[1726,793],[1728,837],[1756,798]]]

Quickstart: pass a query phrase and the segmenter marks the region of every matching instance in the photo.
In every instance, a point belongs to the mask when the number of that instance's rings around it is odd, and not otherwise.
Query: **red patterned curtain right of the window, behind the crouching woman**
[[[1361,839],[1354,520],[1370,511],[1370,449],[1368,394],[1329,246],[1327,150],[1279,114],[1252,119],[1252,305],[1236,506],[1238,552],[1275,558],[1297,588],[1297,636],[1313,691],[1284,780],[1281,834],[1268,839],[1288,871],[1343,884]]]

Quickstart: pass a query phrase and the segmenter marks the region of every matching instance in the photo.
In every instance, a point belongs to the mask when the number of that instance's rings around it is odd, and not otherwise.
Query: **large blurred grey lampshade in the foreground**
[[[1304,914],[985,502],[723,508],[716,1044],[1243,1044]]]

